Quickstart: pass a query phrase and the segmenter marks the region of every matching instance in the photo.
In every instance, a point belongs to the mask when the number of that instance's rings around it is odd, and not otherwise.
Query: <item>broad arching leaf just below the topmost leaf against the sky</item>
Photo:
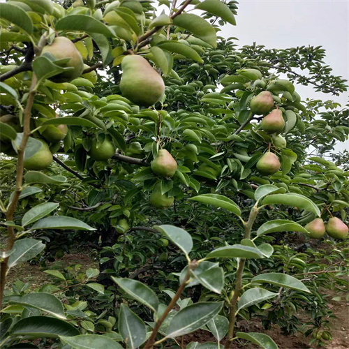
[[[202,17],[183,13],[174,18],[173,24],[190,31],[195,36],[205,41],[205,43],[209,43],[212,47],[216,47],[216,30]]]

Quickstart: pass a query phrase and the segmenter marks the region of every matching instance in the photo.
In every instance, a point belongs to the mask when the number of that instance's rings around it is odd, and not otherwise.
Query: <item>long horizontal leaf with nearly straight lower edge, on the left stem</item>
[[[37,221],[32,227],[36,229],[73,229],[73,230],[96,230],[76,218],[66,216],[50,216]]]

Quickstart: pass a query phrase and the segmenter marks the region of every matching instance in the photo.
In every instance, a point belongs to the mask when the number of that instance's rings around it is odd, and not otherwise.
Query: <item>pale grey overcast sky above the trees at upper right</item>
[[[236,20],[235,27],[226,25],[218,35],[239,38],[239,46],[254,41],[267,48],[322,45],[333,74],[349,80],[349,0],[240,0]],[[348,92],[332,96],[315,92],[311,85],[296,89],[302,99],[348,104]],[[349,141],[336,147],[343,149],[349,150]]]

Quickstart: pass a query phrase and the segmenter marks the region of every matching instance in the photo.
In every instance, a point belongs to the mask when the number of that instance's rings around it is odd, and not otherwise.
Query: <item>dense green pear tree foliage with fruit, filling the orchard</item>
[[[188,349],[270,349],[237,319],[290,334],[302,308],[312,341],[331,339],[319,288],[348,286],[349,186],[322,155],[348,140],[348,109],[297,84],[338,95],[345,80],[321,47],[237,49],[219,36],[236,14],[234,0],[0,3],[0,346],[177,346],[200,329],[216,341]],[[83,244],[99,270],[6,284]]]

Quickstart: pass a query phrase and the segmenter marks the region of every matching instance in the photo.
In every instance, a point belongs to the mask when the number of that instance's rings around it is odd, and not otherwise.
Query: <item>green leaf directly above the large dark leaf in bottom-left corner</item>
[[[54,315],[56,318],[65,319],[64,308],[61,301],[54,295],[45,292],[28,293],[24,296],[11,296],[10,304],[20,304],[40,309],[45,313]]]

